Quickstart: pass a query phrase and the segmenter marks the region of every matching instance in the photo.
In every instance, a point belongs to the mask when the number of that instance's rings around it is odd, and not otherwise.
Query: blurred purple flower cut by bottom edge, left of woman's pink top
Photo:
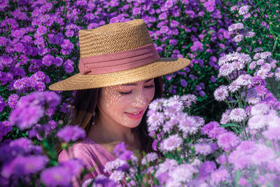
[[[45,186],[71,186],[71,173],[62,166],[44,169],[40,174],[40,179]]]

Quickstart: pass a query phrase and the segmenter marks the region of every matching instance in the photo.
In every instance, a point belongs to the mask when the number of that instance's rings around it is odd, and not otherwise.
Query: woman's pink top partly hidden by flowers
[[[92,179],[99,174],[104,174],[105,176],[110,176],[108,172],[104,173],[103,169],[107,162],[113,161],[116,157],[110,153],[103,146],[95,143],[92,139],[86,137],[85,139],[78,141],[73,146],[69,147],[70,158],[78,158],[82,160],[87,169],[95,168],[94,172],[86,174],[83,181],[87,179]],[[69,155],[65,150],[59,153],[58,161],[64,162],[69,160]],[[96,166],[96,167],[95,167]],[[81,186],[83,181],[73,181],[73,186]]]

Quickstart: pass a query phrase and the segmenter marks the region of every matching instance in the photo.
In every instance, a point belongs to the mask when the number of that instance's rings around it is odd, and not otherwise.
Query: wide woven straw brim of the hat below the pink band
[[[190,64],[186,58],[160,58],[151,64],[141,67],[117,71],[108,74],[82,75],[76,74],[50,85],[50,90],[85,90],[90,88],[102,88],[112,85],[135,83],[150,78],[156,78],[179,71]]]

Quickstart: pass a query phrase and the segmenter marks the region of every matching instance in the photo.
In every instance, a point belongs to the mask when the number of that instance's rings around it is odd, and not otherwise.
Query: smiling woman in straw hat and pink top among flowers
[[[190,64],[184,58],[160,58],[144,20],[113,23],[79,31],[79,74],[50,85],[50,90],[78,90],[71,124],[79,124],[87,137],[59,154],[59,162],[83,160],[94,172],[104,173],[106,162],[115,160],[119,142],[132,150],[151,151],[146,109],[162,96],[161,76]],[[78,186],[78,183],[75,184]]]

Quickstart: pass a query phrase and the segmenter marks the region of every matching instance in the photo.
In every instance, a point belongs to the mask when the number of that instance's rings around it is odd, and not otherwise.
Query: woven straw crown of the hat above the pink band
[[[152,43],[143,20],[116,22],[79,31],[80,58],[141,48]]]

